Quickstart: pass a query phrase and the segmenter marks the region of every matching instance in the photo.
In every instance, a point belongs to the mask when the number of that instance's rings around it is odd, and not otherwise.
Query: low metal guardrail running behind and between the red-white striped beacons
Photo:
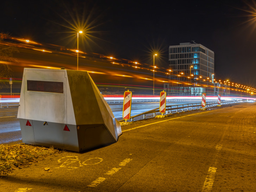
[[[247,102],[247,100],[223,101],[223,102],[221,102],[221,105],[232,104],[232,103],[243,103],[243,102]],[[191,110],[201,109],[202,108],[201,104],[202,103],[200,102],[200,103],[166,105],[165,115],[179,113],[179,112],[183,112],[183,111],[191,111]],[[206,102],[205,107],[208,108],[208,107],[214,107],[217,105],[218,105],[217,101],[212,101],[212,102]],[[136,118],[136,120],[148,119],[148,118],[155,117],[156,114],[161,115],[161,113],[159,112],[159,107],[152,109],[150,111],[146,111],[144,113],[138,114],[138,115],[134,115],[130,118],[130,120],[134,121],[135,118]],[[148,115],[148,116],[146,117],[146,115]],[[140,116],[142,118],[140,118]],[[122,121],[125,121],[125,120],[120,120],[119,122],[122,122]]]

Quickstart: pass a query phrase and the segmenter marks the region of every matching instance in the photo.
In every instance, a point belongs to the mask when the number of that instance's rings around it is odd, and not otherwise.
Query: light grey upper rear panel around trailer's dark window
[[[25,70],[25,119],[67,123],[65,71]],[[27,80],[63,82],[62,93],[27,91]]]

